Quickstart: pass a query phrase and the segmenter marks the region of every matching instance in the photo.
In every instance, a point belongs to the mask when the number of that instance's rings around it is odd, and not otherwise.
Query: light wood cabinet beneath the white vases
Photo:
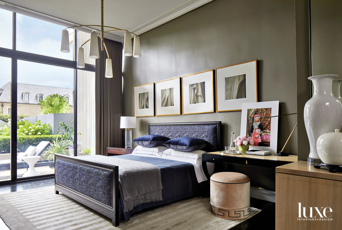
[[[331,212],[330,212],[331,211]],[[276,229],[341,229],[342,172],[306,161],[276,167]]]

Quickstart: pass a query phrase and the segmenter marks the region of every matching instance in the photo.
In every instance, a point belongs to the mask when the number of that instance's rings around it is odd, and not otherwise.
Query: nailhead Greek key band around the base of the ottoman
[[[222,208],[216,205],[213,205],[210,202],[210,212],[214,216],[224,218],[224,219],[244,219],[250,215],[251,206],[245,208]]]

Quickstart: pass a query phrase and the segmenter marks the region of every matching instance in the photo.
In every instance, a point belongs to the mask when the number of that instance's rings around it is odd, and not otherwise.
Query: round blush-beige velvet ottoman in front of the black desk
[[[218,172],[210,177],[210,212],[224,219],[250,214],[250,179],[239,172]]]

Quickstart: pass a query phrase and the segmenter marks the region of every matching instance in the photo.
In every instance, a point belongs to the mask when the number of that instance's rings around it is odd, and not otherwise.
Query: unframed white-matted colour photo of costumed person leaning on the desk
[[[279,101],[243,103],[240,135],[253,140],[249,149],[277,153]]]

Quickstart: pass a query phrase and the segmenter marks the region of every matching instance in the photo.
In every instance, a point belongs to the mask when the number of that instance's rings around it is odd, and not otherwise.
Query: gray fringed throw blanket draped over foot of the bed
[[[162,201],[160,169],[140,161],[102,155],[81,156],[80,159],[119,166],[119,189],[124,212],[146,202]]]

